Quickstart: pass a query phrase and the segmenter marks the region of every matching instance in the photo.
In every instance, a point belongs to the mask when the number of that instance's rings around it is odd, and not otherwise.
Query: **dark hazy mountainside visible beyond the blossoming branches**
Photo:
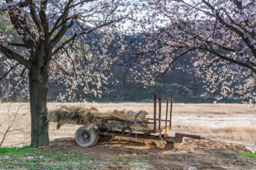
[[[0,29],[5,29],[8,23],[0,23]],[[74,25],[76,27],[77,25]],[[92,29],[92,27],[88,27]],[[67,31],[66,36],[70,35],[70,30]],[[15,34],[15,31],[10,30],[10,34]],[[118,36],[115,34],[115,36]],[[132,38],[125,36],[127,42],[131,41]],[[89,38],[96,38],[93,33],[88,34]],[[18,40],[17,40],[18,41]],[[134,39],[136,43],[143,42],[143,39]],[[113,42],[115,43],[115,42]],[[136,48],[131,47],[134,52]],[[109,51],[115,53],[117,48],[111,48]],[[148,57],[154,57],[154,55],[148,55]],[[1,62],[1,61],[0,61]],[[83,94],[82,90],[79,94],[86,98],[88,101],[148,101],[152,99],[153,93],[157,92],[159,96],[170,97],[173,94],[175,102],[184,103],[198,103],[198,102],[212,102],[216,94],[211,96],[202,97],[201,94],[205,92],[202,87],[202,81],[196,79],[195,74],[189,74],[180,70],[168,71],[163,76],[157,78],[154,85],[147,85],[146,88],[141,83],[134,83],[124,80],[124,72],[127,66],[132,62],[132,57],[127,57],[124,64],[117,64],[111,71],[115,78],[118,78],[118,84],[109,84],[102,87],[102,97],[94,97],[92,94]],[[186,60],[179,60],[176,64],[189,64]],[[1,68],[0,64],[0,70]],[[3,76],[3,71],[0,72],[0,77]],[[10,83],[15,84],[15,81],[10,79]],[[65,87],[63,85],[50,85],[47,99],[49,101],[55,101],[58,93],[63,92]],[[78,99],[77,99],[78,100]],[[233,99],[223,99],[223,102],[233,102]],[[234,101],[239,102],[239,101]]]

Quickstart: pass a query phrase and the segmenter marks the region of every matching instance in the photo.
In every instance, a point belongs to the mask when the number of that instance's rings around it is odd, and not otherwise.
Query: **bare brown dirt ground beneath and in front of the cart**
[[[115,138],[109,143],[81,148],[74,138],[61,138],[41,148],[61,152],[85,152],[102,161],[111,160],[114,164],[109,164],[109,169],[132,169],[131,166],[120,165],[120,157],[147,160],[143,169],[256,169],[255,159],[237,154],[249,151],[234,143],[185,139],[182,144],[175,143],[173,150],[165,150],[164,145],[164,141]]]

